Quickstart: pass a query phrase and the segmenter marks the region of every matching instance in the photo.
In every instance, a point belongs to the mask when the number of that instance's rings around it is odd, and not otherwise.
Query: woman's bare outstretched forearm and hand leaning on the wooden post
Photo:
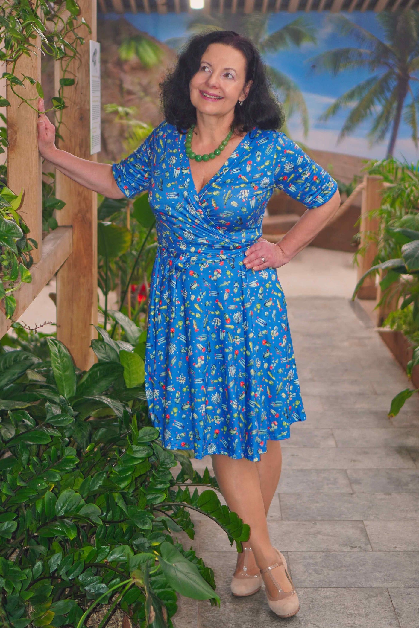
[[[41,98],[38,99],[38,111],[45,111]],[[43,158],[85,188],[99,192],[107,198],[124,198],[110,164],[81,159],[55,146],[55,126],[45,113],[38,117],[38,149]]]

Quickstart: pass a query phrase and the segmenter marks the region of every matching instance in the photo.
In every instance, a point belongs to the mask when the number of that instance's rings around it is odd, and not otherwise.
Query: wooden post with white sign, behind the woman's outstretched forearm
[[[83,159],[97,161],[90,155],[90,50],[89,40],[97,40],[96,0],[79,0],[80,16],[92,33],[78,31],[85,43],[79,46],[81,61],[73,60],[68,69],[76,84],[65,90],[68,105],[63,111],[58,147]],[[60,63],[55,67],[55,89],[58,90]],[[73,227],[73,252],[57,274],[57,336],[80,369],[89,369],[95,355],[89,348],[97,337],[97,193],[75,183],[57,170],[57,197],[65,207],[57,212],[60,225]]]

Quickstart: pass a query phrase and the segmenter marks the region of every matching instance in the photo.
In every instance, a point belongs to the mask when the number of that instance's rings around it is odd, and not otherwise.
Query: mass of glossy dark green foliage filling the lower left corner
[[[99,328],[87,372],[55,338],[46,360],[0,355],[0,619],[13,628],[82,628],[102,604],[102,627],[119,609],[136,628],[170,628],[177,594],[219,604],[214,573],[178,542],[193,539],[188,511],[239,549],[249,537],[208,470],[161,447],[136,366],[143,340],[117,319],[137,345]]]

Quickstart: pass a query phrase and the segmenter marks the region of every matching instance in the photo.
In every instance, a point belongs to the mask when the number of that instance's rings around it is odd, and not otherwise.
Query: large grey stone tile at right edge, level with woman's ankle
[[[297,590],[298,587],[419,587],[419,552],[295,551],[289,557]]]

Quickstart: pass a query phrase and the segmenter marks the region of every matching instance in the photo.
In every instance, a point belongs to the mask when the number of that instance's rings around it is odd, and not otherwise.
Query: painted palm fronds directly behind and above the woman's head
[[[188,30],[200,32],[214,28],[215,30],[232,30],[249,37],[262,55],[286,50],[290,46],[301,46],[303,43],[316,43],[312,26],[304,18],[297,18],[273,33],[268,33],[269,14],[254,11],[248,15],[214,13],[200,14],[188,24]],[[166,42],[168,43],[168,42]],[[175,41],[173,41],[175,43]],[[177,45],[183,43],[176,42]],[[267,65],[269,79],[285,109],[285,117],[289,119],[298,114],[302,122],[304,136],[308,133],[307,105],[298,85],[284,72]],[[283,131],[287,133],[284,126]],[[287,133],[288,134],[288,133]]]

